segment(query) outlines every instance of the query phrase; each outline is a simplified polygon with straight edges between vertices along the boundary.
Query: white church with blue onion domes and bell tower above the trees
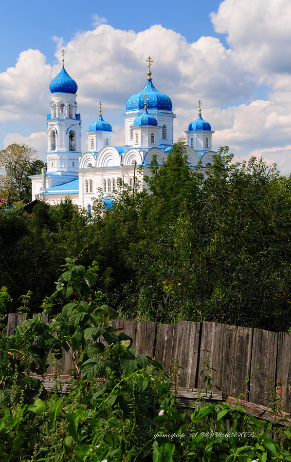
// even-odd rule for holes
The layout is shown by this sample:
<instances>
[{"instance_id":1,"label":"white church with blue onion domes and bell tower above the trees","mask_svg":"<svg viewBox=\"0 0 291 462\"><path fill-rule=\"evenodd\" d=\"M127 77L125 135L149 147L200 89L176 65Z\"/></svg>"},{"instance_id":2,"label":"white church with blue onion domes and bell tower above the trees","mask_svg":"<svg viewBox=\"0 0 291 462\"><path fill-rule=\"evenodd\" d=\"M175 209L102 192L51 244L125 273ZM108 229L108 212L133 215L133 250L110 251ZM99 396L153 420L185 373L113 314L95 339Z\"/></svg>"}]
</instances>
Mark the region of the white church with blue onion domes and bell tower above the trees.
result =
<instances>
[{"instance_id":1,"label":"white church with blue onion domes and bell tower above the trees","mask_svg":"<svg viewBox=\"0 0 291 462\"><path fill-rule=\"evenodd\" d=\"M64 68L62 51L63 67L49 85L47 170L42 169L41 175L30 177L32 200L43 199L56 204L68 196L90 213L96 200L101 199L106 208L112 205L118 178L133 187L136 166L142 165L143 175L149 175L153 156L156 164L162 165L173 144L176 115L171 99L153 85L149 56L145 86L126 101L125 145L114 145L114 132L102 117L100 102L99 117L86 132L88 150L82 153L81 115L76 101L78 87ZM211 137L214 131L202 119L201 102L198 104L198 117L185 131L186 149L190 168L201 160L201 170L205 171L212 162Z\"/></svg>"}]
</instances>

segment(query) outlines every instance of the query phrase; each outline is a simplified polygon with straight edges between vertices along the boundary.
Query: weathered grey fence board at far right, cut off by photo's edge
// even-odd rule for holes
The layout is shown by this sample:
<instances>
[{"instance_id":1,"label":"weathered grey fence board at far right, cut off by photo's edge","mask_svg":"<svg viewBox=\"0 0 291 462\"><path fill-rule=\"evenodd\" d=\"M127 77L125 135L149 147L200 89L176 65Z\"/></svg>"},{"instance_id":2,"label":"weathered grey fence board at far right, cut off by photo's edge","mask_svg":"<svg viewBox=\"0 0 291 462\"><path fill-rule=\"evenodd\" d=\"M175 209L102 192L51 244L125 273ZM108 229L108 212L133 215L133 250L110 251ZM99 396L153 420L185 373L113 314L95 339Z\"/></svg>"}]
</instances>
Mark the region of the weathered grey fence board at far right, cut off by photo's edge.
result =
<instances>
[{"instance_id":1,"label":"weathered grey fence board at far right, cut off by photo's edge","mask_svg":"<svg viewBox=\"0 0 291 462\"><path fill-rule=\"evenodd\" d=\"M291 334L283 332L278 337L277 383L281 405L291 412Z\"/></svg>"}]
</instances>

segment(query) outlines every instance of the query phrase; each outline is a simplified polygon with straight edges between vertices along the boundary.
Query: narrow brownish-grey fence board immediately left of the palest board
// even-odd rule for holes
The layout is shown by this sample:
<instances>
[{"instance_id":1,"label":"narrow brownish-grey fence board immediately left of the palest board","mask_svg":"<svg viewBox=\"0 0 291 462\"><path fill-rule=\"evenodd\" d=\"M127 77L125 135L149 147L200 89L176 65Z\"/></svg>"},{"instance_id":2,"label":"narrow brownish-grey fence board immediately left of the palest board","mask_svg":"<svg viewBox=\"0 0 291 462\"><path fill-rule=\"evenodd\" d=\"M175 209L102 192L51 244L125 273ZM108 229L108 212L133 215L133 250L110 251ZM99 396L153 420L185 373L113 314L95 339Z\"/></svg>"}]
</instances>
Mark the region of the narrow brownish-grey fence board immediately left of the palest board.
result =
<instances>
[{"instance_id":1,"label":"narrow brownish-grey fence board immediately left of the palest board","mask_svg":"<svg viewBox=\"0 0 291 462\"><path fill-rule=\"evenodd\" d=\"M176 325L172 324L159 324L155 358L159 361L163 368L170 373L171 360L172 360L172 348L173 340L175 338Z\"/></svg>"}]
</instances>

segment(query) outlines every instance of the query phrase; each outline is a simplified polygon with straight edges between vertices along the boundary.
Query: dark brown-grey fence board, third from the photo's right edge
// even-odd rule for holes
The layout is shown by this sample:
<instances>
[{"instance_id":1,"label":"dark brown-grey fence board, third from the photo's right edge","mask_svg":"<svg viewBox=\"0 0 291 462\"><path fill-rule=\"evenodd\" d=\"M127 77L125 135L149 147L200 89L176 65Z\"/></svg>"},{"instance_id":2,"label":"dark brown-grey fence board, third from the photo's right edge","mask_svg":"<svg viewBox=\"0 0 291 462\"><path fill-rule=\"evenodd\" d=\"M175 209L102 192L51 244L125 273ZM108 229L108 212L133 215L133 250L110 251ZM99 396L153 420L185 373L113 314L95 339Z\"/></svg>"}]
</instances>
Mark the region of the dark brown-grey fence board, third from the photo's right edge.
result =
<instances>
[{"instance_id":1,"label":"dark brown-grey fence board, third from the photo's right edge","mask_svg":"<svg viewBox=\"0 0 291 462\"><path fill-rule=\"evenodd\" d=\"M249 398L250 364L251 364L251 347L252 347L253 329L239 327L235 336L235 345L233 352L233 362L228 377L229 387L227 386L227 396L239 398L244 394L244 398Z\"/></svg>"}]
</instances>

